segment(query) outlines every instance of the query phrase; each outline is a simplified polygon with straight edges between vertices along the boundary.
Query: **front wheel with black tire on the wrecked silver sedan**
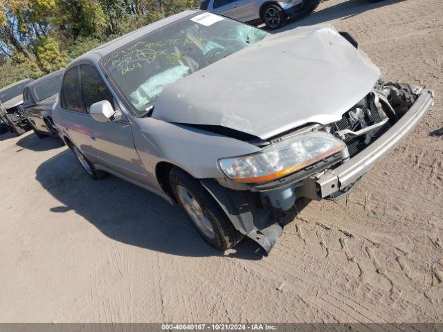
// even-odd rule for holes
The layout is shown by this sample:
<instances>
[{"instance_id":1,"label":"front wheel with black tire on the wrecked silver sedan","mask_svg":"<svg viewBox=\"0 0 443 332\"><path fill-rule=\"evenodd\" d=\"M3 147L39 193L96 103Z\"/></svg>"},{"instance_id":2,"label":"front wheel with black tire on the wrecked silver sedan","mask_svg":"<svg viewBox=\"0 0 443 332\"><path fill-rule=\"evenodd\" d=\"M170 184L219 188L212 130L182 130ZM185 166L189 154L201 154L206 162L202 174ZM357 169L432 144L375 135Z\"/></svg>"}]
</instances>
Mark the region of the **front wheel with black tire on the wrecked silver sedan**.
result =
<instances>
[{"instance_id":1,"label":"front wheel with black tire on the wrecked silver sedan","mask_svg":"<svg viewBox=\"0 0 443 332\"><path fill-rule=\"evenodd\" d=\"M174 167L170 185L175 199L201 237L218 250L233 248L244 237L201 183Z\"/></svg>"}]
</instances>

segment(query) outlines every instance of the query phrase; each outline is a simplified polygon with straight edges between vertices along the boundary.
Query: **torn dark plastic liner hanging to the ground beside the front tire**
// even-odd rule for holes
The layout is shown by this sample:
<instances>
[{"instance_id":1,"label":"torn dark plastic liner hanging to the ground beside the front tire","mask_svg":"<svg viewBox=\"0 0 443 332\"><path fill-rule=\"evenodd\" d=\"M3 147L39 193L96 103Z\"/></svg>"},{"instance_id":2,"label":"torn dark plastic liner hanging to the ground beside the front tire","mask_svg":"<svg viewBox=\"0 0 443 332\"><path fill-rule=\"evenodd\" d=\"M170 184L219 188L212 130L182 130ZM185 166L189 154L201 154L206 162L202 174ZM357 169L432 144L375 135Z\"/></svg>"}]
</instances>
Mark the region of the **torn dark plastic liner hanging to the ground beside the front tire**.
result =
<instances>
[{"instance_id":1,"label":"torn dark plastic liner hanging to the ground beside the front tire","mask_svg":"<svg viewBox=\"0 0 443 332\"><path fill-rule=\"evenodd\" d=\"M219 203L234 227L267 253L283 232L275 212L262 207L259 194L222 187L214 179L203 179L201 184Z\"/></svg>"}]
</instances>

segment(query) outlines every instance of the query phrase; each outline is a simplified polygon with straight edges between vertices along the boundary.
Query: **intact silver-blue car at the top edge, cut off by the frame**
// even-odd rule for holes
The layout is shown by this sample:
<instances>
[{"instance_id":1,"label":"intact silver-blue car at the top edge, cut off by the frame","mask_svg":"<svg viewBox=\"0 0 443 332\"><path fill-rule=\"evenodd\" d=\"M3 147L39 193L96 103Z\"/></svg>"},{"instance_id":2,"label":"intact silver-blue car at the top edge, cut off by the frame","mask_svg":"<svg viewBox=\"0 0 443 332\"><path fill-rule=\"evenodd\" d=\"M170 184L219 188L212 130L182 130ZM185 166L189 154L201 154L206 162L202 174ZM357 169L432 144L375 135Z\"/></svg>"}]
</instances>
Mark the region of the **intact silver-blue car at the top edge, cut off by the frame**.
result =
<instances>
[{"instance_id":1,"label":"intact silver-blue car at the top edge, cut off by the frame","mask_svg":"<svg viewBox=\"0 0 443 332\"><path fill-rule=\"evenodd\" d=\"M312 12L320 2L320 0L204 0L200 9L249 24L264 23L269 29L277 29L288 19Z\"/></svg>"}]
</instances>

